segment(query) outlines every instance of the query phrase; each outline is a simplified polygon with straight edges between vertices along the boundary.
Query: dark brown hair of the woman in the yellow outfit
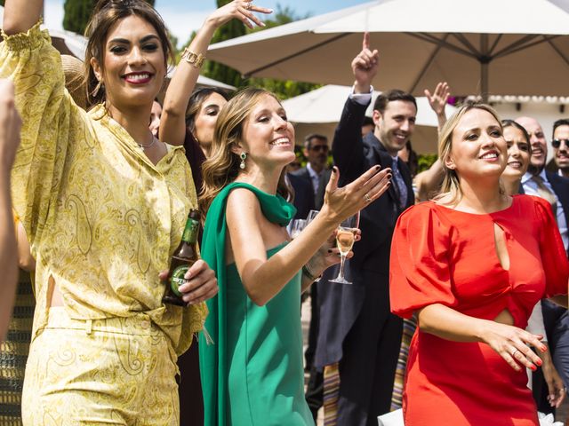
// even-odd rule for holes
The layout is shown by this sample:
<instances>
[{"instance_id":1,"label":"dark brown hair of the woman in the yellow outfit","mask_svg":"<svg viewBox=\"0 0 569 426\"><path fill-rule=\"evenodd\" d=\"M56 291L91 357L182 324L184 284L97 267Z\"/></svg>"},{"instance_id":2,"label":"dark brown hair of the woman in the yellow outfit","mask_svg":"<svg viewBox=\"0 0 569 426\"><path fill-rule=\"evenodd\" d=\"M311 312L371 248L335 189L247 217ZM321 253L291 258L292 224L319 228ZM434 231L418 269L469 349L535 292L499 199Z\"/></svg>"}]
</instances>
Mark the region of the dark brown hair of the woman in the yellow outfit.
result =
<instances>
[{"instance_id":1,"label":"dark brown hair of the woman in the yellow outfit","mask_svg":"<svg viewBox=\"0 0 569 426\"><path fill-rule=\"evenodd\" d=\"M156 29L164 50L164 66L167 68L168 61L173 62L172 43L170 43L164 20L150 4L143 0L99 0L85 29L88 42L85 50L84 79L90 105L106 100L105 89L97 80L91 66L91 59L97 59L102 67L108 31L116 22L129 16L138 16Z\"/></svg>"}]
</instances>

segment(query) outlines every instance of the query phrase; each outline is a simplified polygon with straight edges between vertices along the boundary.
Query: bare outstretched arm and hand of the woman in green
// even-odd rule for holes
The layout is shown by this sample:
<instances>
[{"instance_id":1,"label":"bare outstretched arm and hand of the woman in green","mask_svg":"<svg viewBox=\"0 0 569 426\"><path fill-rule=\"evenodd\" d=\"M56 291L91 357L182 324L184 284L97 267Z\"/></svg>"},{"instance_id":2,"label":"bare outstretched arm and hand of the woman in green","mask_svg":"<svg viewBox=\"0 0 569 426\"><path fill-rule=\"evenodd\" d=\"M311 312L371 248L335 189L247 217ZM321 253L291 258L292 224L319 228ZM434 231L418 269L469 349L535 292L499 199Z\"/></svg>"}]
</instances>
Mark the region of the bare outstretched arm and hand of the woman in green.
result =
<instances>
[{"instance_id":1,"label":"bare outstretched arm and hand of the woman in green","mask_svg":"<svg viewBox=\"0 0 569 426\"><path fill-rule=\"evenodd\" d=\"M244 289L253 303L263 305L276 296L325 244L341 220L379 198L389 186L389 171L379 171L376 166L353 183L338 188L339 172L335 170L320 213L298 237L269 259L265 244L274 247L282 240L264 241L259 201L248 190L233 191L227 205L228 239ZM370 201L365 201L366 193ZM311 271L314 276L321 272Z\"/></svg>"}]
</instances>

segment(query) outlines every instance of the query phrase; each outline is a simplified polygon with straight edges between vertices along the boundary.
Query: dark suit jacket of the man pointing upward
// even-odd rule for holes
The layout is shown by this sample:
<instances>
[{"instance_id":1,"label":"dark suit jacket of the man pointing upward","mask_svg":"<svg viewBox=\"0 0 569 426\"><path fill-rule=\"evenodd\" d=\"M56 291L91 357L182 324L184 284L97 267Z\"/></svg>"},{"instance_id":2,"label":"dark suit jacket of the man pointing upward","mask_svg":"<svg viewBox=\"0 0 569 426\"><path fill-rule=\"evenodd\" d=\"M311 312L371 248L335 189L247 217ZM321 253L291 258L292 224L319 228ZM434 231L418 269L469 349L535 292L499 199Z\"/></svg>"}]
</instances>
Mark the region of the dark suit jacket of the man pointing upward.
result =
<instances>
[{"instance_id":1,"label":"dark suit jacket of the man pointing upward","mask_svg":"<svg viewBox=\"0 0 569 426\"><path fill-rule=\"evenodd\" d=\"M333 159L340 169L340 185L347 185L365 170L379 164L382 169L390 168L392 159L381 142L368 133L362 138L361 126L366 106L348 99L341 115L341 121L334 134ZM414 202L411 174L404 162L399 170L407 185L405 209ZM320 300L320 332L317 343L317 367L337 362L342 356L342 343L357 319L364 298L377 297L375 305L382 310L387 320L389 312L389 253L391 237L402 213L398 207L393 185L387 193L374 201L360 213L359 227L362 240L354 245L354 256L346 264L346 274L352 285L339 285L321 280L318 283ZM335 273L326 273L327 278ZM370 324L382 327L382 324ZM370 342L370 345L376 344ZM399 350L398 343L397 348Z\"/></svg>"}]
</instances>

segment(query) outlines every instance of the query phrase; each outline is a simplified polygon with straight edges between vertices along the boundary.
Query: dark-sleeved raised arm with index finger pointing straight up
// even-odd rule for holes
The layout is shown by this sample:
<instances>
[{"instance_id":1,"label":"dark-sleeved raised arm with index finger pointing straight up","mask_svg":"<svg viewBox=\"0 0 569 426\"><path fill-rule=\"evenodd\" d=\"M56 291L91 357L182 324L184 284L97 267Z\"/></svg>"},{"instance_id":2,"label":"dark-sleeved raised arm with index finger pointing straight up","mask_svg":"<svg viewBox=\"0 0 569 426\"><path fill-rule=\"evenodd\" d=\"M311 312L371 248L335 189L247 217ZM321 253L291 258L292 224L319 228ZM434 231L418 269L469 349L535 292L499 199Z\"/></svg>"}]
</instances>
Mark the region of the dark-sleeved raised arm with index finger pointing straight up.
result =
<instances>
[{"instance_id":1,"label":"dark-sleeved raised arm with index finger pointing straight up","mask_svg":"<svg viewBox=\"0 0 569 426\"><path fill-rule=\"evenodd\" d=\"M365 170L362 122L372 101L372 81L378 66L379 52L371 50L369 34L365 33L362 51L351 63L355 96L346 101L332 144L334 162L349 181Z\"/></svg>"}]
</instances>

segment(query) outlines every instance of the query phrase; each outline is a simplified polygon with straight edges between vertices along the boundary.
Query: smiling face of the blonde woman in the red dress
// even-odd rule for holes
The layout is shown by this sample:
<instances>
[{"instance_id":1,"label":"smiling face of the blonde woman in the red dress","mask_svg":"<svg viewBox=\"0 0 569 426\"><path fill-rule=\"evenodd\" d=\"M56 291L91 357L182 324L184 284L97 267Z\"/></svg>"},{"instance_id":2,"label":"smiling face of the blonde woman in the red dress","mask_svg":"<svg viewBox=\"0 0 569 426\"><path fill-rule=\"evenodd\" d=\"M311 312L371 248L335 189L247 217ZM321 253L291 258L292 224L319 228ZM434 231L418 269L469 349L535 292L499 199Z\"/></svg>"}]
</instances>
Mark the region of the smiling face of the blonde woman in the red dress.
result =
<instances>
[{"instance_id":1,"label":"smiling face of the blonde woman in the red dress","mask_svg":"<svg viewBox=\"0 0 569 426\"><path fill-rule=\"evenodd\" d=\"M501 124L480 108L467 111L453 130L445 165L461 179L500 177L506 167L507 148Z\"/></svg>"}]
</instances>

